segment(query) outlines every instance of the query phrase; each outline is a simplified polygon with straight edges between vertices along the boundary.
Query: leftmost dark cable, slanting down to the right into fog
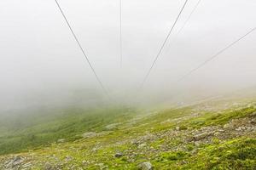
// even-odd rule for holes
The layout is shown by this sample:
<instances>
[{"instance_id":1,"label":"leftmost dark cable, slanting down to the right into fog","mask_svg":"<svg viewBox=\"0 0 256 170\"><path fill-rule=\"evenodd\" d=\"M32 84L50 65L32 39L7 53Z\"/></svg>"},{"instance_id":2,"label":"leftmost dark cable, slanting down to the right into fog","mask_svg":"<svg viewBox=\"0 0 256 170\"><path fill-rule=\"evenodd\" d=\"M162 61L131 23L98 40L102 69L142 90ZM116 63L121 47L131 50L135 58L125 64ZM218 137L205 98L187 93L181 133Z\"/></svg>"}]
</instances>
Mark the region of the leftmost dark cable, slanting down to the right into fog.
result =
<instances>
[{"instance_id":1,"label":"leftmost dark cable, slanting down to the right into fog","mask_svg":"<svg viewBox=\"0 0 256 170\"><path fill-rule=\"evenodd\" d=\"M78 37L77 37L77 36L76 36L76 34L74 33L72 26L69 24L69 22L68 22L68 20L67 20L66 15L64 14L63 10L61 9L60 4L58 3L58 1L57 1L57 0L55 0L55 3L57 4L58 8L60 9L60 12L61 12L61 14L62 14L63 18L65 19L65 21L66 21L66 23L67 23L67 26L68 26L69 30L72 32L72 34L73 34L73 37L74 37L75 41L78 43L79 48L80 48L81 52L82 52L82 53L83 53L83 55L84 55L84 58L86 59L86 61L87 61L88 65L90 65L90 70L93 72L94 76L96 77L97 82L99 82L99 84L100 84L100 86L102 87L102 89L103 89L104 93L108 95L107 88L105 88L105 87L104 87L104 85L103 85L103 83L102 83L101 79L97 76L97 74L96 74L96 71L95 71L94 67L91 65L90 60L88 59L87 55L85 54L85 52L84 52L84 48L82 48L81 43L79 42Z\"/></svg>"}]
</instances>

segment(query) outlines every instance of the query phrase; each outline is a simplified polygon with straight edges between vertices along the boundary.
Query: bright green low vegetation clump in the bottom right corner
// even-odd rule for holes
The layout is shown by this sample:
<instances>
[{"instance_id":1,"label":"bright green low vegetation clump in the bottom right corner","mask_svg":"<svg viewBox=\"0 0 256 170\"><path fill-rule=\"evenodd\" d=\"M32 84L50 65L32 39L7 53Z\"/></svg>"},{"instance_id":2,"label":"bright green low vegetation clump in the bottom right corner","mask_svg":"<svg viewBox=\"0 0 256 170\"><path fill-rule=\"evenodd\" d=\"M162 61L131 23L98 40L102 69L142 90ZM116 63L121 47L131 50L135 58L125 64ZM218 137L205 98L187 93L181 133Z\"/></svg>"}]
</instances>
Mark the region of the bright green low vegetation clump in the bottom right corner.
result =
<instances>
[{"instance_id":1,"label":"bright green low vegetation clump in the bottom right corner","mask_svg":"<svg viewBox=\"0 0 256 170\"><path fill-rule=\"evenodd\" d=\"M183 169L255 169L256 139L232 139L210 144L188 159Z\"/></svg>"}]
</instances>

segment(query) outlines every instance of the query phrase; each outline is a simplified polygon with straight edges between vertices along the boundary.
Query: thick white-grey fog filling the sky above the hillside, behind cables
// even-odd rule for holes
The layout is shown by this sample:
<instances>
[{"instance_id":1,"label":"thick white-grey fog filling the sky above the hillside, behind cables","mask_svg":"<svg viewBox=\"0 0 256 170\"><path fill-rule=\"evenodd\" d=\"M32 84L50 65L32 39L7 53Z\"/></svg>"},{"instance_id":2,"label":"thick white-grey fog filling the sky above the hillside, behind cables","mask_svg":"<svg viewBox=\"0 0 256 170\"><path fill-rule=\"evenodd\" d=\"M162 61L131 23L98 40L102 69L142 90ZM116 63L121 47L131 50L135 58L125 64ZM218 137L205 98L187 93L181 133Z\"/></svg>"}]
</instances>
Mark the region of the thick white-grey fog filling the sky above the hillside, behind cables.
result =
<instances>
[{"instance_id":1,"label":"thick white-grey fog filling the sky above the hillside, behind cables","mask_svg":"<svg viewBox=\"0 0 256 170\"><path fill-rule=\"evenodd\" d=\"M253 0L197 0L184 8L148 81L140 89L182 0L59 0L97 75L102 92L54 0L0 1L0 114L40 105L182 102L253 87L256 31L177 82L256 26Z\"/></svg>"}]
</instances>

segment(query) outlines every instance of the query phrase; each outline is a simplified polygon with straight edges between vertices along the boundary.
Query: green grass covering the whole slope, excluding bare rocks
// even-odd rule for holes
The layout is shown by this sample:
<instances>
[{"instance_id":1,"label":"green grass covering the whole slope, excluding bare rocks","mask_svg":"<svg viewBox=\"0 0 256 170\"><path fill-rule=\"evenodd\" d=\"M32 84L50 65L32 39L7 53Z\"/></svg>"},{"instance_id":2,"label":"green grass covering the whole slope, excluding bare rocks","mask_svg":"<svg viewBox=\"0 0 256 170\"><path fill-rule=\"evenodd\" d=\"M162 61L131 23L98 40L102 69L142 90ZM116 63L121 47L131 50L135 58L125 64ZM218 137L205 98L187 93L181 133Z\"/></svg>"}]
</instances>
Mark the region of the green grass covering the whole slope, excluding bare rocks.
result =
<instances>
[{"instance_id":1,"label":"green grass covering the whole slope, excluding bare rocks","mask_svg":"<svg viewBox=\"0 0 256 170\"><path fill-rule=\"evenodd\" d=\"M44 117L39 124L24 126L17 132L4 135L0 138L0 153L2 150L5 154L33 149L21 154L32 160L33 169L44 169L45 162L61 169L100 169L102 165L109 169L137 169L143 161L150 161L154 169L163 170L255 169L255 132L234 137L231 134L236 131L234 128L224 139L212 135L208 142L201 140L200 144L186 140L202 127L222 128L234 119L255 118L255 105L244 103L222 109L220 104L212 104L209 111L203 109L205 104L201 104L144 116L129 108L69 109L52 120ZM142 118L129 124L136 116ZM100 133L107 125L116 122L121 124L106 135L90 139L78 137L85 132ZM65 143L55 143L62 138L66 139ZM145 146L139 148L140 144ZM116 158L116 152L124 155ZM72 159L67 161L69 156Z\"/></svg>"}]
</instances>

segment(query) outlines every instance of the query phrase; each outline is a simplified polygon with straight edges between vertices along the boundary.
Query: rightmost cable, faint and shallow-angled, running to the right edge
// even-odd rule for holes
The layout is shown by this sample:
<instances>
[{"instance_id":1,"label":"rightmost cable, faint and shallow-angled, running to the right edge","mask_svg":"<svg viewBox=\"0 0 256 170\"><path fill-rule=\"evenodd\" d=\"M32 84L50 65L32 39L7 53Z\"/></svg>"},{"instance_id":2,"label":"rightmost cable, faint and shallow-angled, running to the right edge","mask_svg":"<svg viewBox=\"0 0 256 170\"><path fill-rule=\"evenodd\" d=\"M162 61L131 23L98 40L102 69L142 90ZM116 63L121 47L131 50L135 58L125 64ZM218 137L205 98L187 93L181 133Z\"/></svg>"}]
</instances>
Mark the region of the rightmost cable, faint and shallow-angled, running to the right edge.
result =
<instances>
[{"instance_id":1,"label":"rightmost cable, faint and shallow-angled, running to the right edge","mask_svg":"<svg viewBox=\"0 0 256 170\"><path fill-rule=\"evenodd\" d=\"M206 65L208 62L212 61L212 59L215 59L218 57L218 55L223 54L224 51L226 51L227 49L231 48L232 46L234 46L237 42L240 42L244 37L247 37L250 33L252 33L253 31L256 30L256 27L254 27L251 31L248 31L245 35L241 36L240 38L236 39L236 41L230 43L230 45L228 45L227 47L221 49L220 51L218 51L217 54L212 55L212 57L210 57L209 59L205 60L204 62L202 62L200 65L198 65L197 67L195 67L194 69L192 69L191 71L189 71L187 74L183 75L183 77L181 77L180 79L178 79L177 82L181 82L184 78L188 77L190 74L192 74L193 72L197 71L198 69L200 69L202 66Z\"/></svg>"}]
</instances>

